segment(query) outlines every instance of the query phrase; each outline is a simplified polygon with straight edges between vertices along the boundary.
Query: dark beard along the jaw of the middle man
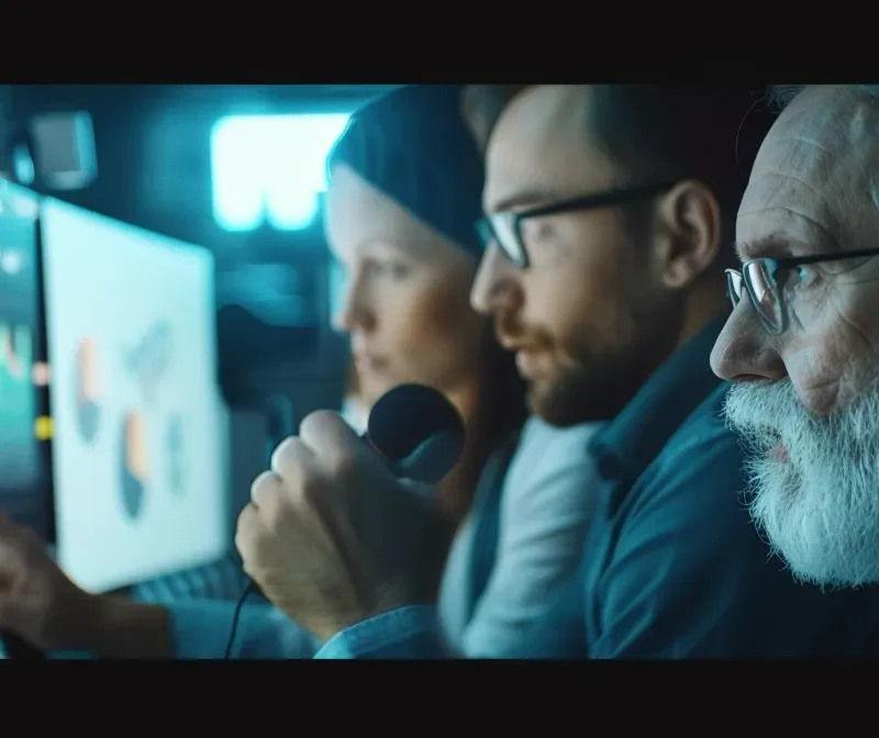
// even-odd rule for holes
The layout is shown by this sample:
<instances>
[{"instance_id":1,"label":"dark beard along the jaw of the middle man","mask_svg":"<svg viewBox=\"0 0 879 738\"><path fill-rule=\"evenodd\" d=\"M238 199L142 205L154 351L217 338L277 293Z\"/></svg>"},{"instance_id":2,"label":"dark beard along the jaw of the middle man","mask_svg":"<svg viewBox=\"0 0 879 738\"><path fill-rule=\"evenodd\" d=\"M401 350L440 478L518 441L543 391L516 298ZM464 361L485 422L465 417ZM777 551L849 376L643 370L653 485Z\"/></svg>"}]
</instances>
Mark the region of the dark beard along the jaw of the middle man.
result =
<instances>
[{"instance_id":1,"label":"dark beard along the jaw of the middle man","mask_svg":"<svg viewBox=\"0 0 879 738\"><path fill-rule=\"evenodd\" d=\"M552 383L530 388L532 412L556 427L615 417L674 353L683 323L683 301L669 295L666 304L641 310L634 323L632 343L612 354L596 355L588 340L575 346L574 368Z\"/></svg>"}]
</instances>

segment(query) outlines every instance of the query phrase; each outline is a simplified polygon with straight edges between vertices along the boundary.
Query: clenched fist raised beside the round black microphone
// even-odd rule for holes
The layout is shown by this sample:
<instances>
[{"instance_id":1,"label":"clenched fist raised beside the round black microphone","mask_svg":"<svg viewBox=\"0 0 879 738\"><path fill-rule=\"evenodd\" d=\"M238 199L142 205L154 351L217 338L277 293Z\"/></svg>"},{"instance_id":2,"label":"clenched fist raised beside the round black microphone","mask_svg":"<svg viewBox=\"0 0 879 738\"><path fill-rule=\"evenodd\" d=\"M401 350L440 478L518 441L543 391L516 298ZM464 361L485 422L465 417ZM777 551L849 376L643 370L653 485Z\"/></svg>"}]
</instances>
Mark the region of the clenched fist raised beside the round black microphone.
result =
<instances>
[{"instance_id":1,"label":"clenched fist raised beside the round black microphone","mask_svg":"<svg viewBox=\"0 0 879 738\"><path fill-rule=\"evenodd\" d=\"M309 415L257 478L238 517L244 570L320 638L435 601L452 529L335 413Z\"/></svg>"}]
</instances>

